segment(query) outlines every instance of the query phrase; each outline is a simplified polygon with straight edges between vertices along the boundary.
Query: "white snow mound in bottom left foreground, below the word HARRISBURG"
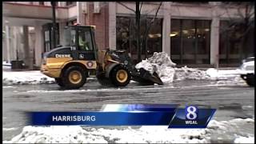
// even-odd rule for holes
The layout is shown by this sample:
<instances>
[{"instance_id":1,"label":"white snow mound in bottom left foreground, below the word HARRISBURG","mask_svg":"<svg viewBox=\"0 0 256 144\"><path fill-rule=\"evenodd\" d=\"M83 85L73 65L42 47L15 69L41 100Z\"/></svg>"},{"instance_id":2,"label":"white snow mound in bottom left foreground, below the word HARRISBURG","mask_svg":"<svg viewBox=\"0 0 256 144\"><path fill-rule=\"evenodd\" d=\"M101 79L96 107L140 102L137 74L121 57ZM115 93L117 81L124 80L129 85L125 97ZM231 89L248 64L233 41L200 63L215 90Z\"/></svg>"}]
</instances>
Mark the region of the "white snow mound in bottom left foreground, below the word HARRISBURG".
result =
<instances>
[{"instance_id":1,"label":"white snow mound in bottom left foreground, below the word HARRISBURG","mask_svg":"<svg viewBox=\"0 0 256 144\"><path fill-rule=\"evenodd\" d=\"M22 134L4 143L107 143L103 137L88 134L81 126L25 126Z\"/></svg>"}]
</instances>

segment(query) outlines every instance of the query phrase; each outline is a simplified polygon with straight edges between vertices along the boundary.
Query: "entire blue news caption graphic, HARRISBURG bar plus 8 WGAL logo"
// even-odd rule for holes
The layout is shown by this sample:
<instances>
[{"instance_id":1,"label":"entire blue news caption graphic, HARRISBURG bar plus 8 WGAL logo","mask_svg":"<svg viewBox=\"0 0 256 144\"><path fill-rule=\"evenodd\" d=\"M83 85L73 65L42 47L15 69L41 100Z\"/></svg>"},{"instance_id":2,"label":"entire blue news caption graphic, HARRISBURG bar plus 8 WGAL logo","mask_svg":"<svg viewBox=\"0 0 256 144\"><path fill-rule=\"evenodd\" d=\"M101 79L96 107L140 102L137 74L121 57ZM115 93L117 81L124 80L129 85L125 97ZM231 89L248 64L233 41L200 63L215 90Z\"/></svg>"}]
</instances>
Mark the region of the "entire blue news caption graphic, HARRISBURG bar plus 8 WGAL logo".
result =
<instances>
[{"instance_id":1,"label":"entire blue news caption graphic, HARRISBURG bar plus 8 WGAL logo","mask_svg":"<svg viewBox=\"0 0 256 144\"><path fill-rule=\"evenodd\" d=\"M88 112L31 112L34 126L168 126L169 128L205 128L214 109L198 109L178 105L107 104L102 111Z\"/></svg>"}]
</instances>

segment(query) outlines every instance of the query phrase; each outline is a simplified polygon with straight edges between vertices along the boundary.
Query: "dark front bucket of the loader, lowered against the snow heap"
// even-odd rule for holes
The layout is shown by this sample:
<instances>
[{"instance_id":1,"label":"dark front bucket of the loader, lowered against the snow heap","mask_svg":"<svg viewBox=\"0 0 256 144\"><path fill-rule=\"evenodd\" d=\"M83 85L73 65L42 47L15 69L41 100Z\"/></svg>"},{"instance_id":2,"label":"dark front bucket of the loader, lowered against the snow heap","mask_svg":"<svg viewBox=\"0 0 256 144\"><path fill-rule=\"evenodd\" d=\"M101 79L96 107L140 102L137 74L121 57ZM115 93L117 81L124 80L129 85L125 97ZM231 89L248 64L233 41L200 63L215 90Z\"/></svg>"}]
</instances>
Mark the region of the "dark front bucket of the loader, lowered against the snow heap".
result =
<instances>
[{"instance_id":1,"label":"dark front bucket of the loader, lowered against the snow heap","mask_svg":"<svg viewBox=\"0 0 256 144\"><path fill-rule=\"evenodd\" d=\"M148 70L143 68L140 68L138 73L132 74L132 79L142 85L154 85L154 83L163 85L161 78L159 78L156 72L154 72L154 74L150 74Z\"/></svg>"}]
</instances>

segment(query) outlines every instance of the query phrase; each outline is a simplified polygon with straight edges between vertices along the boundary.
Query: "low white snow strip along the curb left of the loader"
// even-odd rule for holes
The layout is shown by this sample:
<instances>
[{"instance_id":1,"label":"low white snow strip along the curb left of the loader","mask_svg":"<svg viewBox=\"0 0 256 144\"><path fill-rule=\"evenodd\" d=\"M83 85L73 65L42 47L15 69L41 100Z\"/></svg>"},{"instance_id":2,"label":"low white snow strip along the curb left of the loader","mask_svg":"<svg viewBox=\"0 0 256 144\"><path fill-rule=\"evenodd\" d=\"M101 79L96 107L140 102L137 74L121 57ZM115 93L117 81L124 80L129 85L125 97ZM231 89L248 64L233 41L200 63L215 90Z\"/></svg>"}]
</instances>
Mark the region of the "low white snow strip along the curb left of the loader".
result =
<instances>
[{"instance_id":1,"label":"low white snow strip along the curb left of the loader","mask_svg":"<svg viewBox=\"0 0 256 144\"><path fill-rule=\"evenodd\" d=\"M39 70L31 71L2 71L2 84L40 84L54 83L54 78L47 77Z\"/></svg>"}]
</instances>

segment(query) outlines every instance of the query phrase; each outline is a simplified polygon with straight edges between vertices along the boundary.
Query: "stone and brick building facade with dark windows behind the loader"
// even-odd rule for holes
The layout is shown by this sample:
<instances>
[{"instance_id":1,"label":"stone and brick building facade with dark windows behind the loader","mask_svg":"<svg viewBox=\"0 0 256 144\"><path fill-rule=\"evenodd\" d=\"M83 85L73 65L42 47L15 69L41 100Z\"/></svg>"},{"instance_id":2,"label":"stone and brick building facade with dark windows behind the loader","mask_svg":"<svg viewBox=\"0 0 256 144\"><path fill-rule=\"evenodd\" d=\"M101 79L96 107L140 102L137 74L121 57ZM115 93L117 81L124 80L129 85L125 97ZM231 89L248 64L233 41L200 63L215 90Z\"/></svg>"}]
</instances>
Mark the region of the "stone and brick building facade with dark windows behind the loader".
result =
<instances>
[{"instance_id":1,"label":"stone and brick building facade with dark windows behind the loader","mask_svg":"<svg viewBox=\"0 0 256 144\"><path fill-rule=\"evenodd\" d=\"M142 30L154 17L160 2L143 2ZM125 7L126 6L126 7ZM254 6L254 5L252 5ZM64 41L63 30L74 22L82 25L96 26L95 38L98 49L110 47L112 50L126 49L136 57L134 24L134 2L58 2L56 18L58 22L59 43ZM147 48L142 47L142 58L154 51L164 51L180 65L194 66L238 66L242 58L254 56L254 8L250 13L250 25L246 46L241 38L230 37L241 35L239 30L231 30L230 19L240 21L239 11L246 15L245 7L230 5L226 2L163 2L154 26L148 35ZM240 14L241 15L241 14ZM50 2L4 2L3 30L25 28L34 35L32 52L27 57L34 58L34 65L40 66L42 53L52 49L47 45L51 34L52 13ZM226 26L226 27L225 27ZM46 27L46 29L44 28ZM227 30L228 29L228 30ZM15 30L8 30L13 32ZM17 31L17 30L16 30ZM22 30L18 30L22 33ZM48 35L47 35L48 34ZM8 34L7 34L8 35ZM11 35L11 34L9 34ZM29 38L22 35L23 38ZM15 46L10 43L19 42ZM29 42L32 42L30 39ZM11 38L3 39L6 50L3 60L13 60L12 51L24 51L24 43ZM48 48L46 48L48 46ZM9 51L9 53L7 52ZM146 52L147 51L147 52ZM243 53L243 51L246 51ZM8 57L6 55L9 55Z\"/></svg>"}]
</instances>

